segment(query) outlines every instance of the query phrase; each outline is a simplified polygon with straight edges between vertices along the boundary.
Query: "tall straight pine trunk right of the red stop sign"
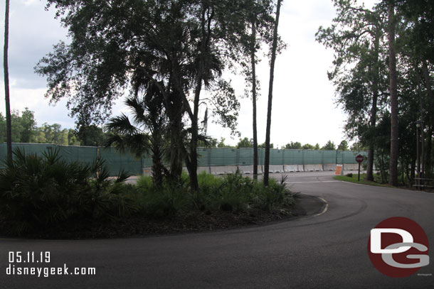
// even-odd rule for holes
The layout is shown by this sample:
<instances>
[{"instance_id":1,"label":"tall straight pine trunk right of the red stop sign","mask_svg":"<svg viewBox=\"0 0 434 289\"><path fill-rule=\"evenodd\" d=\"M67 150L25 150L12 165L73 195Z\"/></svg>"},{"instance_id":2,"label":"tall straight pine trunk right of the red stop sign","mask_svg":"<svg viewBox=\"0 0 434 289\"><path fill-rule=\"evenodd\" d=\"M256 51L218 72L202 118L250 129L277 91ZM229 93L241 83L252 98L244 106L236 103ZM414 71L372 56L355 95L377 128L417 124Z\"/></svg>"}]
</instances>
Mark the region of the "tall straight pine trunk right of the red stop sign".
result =
<instances>
[{"instance_id":1,"label":"tall straight pine trunk right of the red stop sign","mask_svg":"<svg viewBox=\"0 0 434 289\"><path fill-rule=\"evenodd\" d=\"M388 6L388 54L389 75L391 89L391 159L389 162L390 185L398 185L398 91L396 80L396 53L395 53L395 7Z\"/></svg>"}]
</instances>

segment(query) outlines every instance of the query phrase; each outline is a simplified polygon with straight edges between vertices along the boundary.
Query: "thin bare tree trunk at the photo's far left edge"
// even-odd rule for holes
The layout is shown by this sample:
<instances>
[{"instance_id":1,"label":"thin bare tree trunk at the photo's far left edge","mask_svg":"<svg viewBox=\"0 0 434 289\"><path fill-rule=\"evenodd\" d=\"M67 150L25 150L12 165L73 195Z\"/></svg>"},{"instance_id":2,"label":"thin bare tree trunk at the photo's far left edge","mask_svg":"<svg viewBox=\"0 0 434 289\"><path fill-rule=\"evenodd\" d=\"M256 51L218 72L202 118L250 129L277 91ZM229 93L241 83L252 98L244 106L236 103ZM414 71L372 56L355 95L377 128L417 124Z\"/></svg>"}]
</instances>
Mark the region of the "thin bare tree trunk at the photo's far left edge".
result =
<instances>
[{"instance_id":1,"label":"thin bare tree trunk at the photo's far left edge","mask_svg":"<svg viewBox=\"0 0 434 289\"><path fill-rule=\"evenodd\" d=\"M9 67L8 67L8 47L9 47L9 0L6 0L6 11L4 16L4 99L6 102L6 147L7 159L12 161L12 129L11 129L11 103L9 102Z\"/></svg>"}]
</instances>

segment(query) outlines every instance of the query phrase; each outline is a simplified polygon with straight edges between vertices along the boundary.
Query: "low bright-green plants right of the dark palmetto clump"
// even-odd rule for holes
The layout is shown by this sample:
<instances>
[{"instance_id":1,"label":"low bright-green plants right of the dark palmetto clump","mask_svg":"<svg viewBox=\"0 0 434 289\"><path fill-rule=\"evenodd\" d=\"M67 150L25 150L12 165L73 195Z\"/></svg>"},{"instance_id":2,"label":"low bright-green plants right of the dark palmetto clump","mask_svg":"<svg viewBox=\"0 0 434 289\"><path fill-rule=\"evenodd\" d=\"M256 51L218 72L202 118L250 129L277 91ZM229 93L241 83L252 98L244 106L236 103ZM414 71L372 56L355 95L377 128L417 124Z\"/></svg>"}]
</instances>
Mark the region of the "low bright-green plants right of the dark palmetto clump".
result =
<instances>
[{"instance_id":1,"label":"low bright-green plants right of the dark palmetto clump","mask_svg":"<svg viewBox=\"0 0 434 289\"><path fill-rule=\"evenodd\" d=\"M149 177L140 178L137 189L142 195L140 200L144 214L160 218L191 209L240 212L258 208L270 211L275 207L289 206L293 202L285 178L280 182L271 180L268 187L244 177L239 171L223 178L202 172L198 175L198 180L199 191L192 192L186 185L188 179L176 186L166 182L164 187L156 190Z\"/></svg>"}]
</instances>

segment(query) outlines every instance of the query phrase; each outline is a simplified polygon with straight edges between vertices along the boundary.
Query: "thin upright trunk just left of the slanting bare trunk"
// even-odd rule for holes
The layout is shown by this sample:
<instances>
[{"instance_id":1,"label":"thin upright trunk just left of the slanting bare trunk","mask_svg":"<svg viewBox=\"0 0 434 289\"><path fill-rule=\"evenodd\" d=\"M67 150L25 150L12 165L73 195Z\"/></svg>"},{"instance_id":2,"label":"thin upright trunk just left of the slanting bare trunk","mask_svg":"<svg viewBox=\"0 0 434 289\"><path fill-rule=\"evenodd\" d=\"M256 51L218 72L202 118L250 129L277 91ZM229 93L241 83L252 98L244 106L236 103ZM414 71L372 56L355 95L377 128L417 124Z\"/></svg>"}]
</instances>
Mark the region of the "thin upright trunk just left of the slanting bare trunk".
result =
<instances>
[{"instance_id":1,"label":"thin upright trunk just left of the slanting bare trunk","mask_svg":"<svg viewBox=\"0 0 434 289\"><path fill-rule=\"evenodd\" d=\"M250 48L250 61L252 63L252 102L253 102L253 179L258 180L258 131L256 124L256 23L252 22L252 46Z\"/></svg>"}]
</instances>

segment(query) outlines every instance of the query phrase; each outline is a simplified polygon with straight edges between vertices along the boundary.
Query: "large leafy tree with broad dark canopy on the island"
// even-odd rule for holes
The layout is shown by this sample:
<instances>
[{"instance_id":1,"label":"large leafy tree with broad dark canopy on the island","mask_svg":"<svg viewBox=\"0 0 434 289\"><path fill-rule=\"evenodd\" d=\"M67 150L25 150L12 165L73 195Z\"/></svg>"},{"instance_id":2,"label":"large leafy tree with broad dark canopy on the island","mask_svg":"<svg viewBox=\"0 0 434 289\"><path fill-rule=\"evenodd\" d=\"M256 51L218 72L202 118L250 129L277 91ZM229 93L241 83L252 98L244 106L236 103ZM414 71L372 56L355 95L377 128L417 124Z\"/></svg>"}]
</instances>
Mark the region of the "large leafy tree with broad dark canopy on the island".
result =
<instances>
[{"instance_id":1,"label":"large leafy tree with broad dark canopy on the island","mask_svg":"<svg viewBox=\"0 0 434 289\"><path fill-rule=\"evenodd\" d=\"M103 121L127 84L154 84L169 119L171 174L181 179L184 160L191 188L199 190L199 105L208 102L218 124L235 131L239 102L222 72L242 50L244 1L48 0L48 6L68 27L71 44L59 43L36 67L48 79L47 96L68 97L80 126Z\"/></svg>"}]
</instances>

